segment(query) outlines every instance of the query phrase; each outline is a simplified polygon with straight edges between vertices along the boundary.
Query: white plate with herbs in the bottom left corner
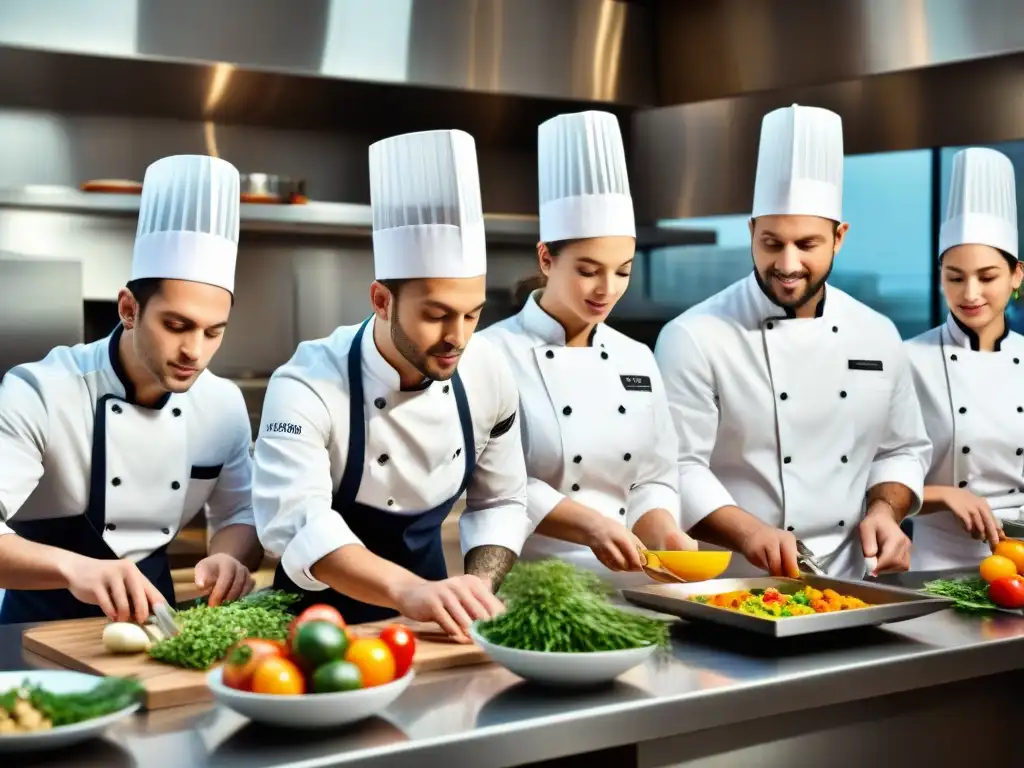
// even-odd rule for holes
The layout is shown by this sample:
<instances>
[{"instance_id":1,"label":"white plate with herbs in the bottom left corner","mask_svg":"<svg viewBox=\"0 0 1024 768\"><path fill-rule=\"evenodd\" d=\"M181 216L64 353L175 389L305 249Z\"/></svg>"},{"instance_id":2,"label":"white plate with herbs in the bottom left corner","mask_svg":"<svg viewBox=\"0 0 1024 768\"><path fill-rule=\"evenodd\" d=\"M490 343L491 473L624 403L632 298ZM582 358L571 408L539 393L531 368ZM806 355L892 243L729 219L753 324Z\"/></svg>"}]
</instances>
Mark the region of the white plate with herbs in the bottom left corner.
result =
<instances>
[{"instance_id":1,"label":"white plate with herbs in the bottom left corner","mask_svg":"<svg viewBox=\"0 0 1024 768\"><path fill-rule=\"evenodd\" d=\"M23 672L0 672L0 693L19 687L28 681L30 685L40 685L51 693L83 693L96 687L102 678L81 672L57 670L25 670ZM53 750L69 746L79 741L94 738L110 726L132 715L141 703L134 703L119 712L101 718L86 720L75 725L61 725L45 731L33 733L0 733L0 753L28 752L30 750Z\"/></svg>"}]
</instances>

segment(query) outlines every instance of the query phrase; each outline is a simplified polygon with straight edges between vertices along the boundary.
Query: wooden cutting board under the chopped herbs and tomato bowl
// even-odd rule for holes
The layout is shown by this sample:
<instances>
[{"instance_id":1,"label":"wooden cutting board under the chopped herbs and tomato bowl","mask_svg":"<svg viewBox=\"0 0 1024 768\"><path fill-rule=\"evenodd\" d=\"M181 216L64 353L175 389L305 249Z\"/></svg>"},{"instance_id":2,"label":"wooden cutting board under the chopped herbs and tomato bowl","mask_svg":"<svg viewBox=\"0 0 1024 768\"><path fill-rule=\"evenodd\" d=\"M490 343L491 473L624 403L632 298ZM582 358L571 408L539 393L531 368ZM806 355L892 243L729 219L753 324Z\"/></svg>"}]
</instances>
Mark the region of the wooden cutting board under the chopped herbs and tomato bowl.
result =
<instances>
[{"instance_id":1,"label":"wooden cutting board under the chopped herbs and tomato bowl","mask_svg":"<svg viewBox=\"0 0 1024 768\"><path fill-rule=\"evenodd\" d=\"M419 673L453 667L485 664L488 659L475 645L462 645L445 639L437 625L406 620L379 622L354 627L359 635L374 635L388 624L403 624L417 633L413 669ZM81 618L51 622L26 630L22 644L61 667L93 675L136 676L145 686L145 708L158 710L212 698L206 674L160 664L145 653L109 653L103 649L105 618Z\"/></svg>"}]
</instances>

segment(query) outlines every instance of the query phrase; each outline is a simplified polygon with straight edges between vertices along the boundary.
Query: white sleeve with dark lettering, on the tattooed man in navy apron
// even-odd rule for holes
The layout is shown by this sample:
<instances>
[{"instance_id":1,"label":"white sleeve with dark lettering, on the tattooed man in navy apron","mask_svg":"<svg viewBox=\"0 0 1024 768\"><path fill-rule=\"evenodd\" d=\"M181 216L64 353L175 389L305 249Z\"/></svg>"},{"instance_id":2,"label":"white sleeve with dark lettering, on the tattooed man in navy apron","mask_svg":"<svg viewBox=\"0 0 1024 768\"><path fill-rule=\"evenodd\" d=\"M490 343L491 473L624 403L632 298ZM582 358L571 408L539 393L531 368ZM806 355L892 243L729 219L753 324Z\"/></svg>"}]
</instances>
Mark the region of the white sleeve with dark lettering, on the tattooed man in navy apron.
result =
<instances>
[{"instance_id":1,"label":"white sleeve with dark lettering, on the tattooed man in navy apron","mask_svg":"<svg viewBox=\"0 0 1024 768\"><path fill-rule=\"evenodd\" d=\"M310 568L335 550L360 544L331 507L327 404L305 382L274 375L267 386L253 462L253 512L263 547L299 587L328 585Z\"/></svg>"}]
</instances>

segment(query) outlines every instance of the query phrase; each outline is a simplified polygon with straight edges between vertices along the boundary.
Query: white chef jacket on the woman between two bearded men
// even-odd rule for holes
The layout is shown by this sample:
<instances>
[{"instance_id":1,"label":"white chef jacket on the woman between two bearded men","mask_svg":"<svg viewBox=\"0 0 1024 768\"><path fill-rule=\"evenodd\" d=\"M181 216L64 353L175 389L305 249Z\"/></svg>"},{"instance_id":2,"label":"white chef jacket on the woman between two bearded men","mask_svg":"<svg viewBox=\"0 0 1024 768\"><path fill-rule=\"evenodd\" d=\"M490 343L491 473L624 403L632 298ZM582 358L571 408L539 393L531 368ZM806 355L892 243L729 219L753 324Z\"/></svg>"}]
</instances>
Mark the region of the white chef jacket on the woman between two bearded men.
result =
<instances>
[{"instance_id":1,"label":"white chef jacket on the woman between two bearded men","mask_svg":"<svg viewBox=\"0 0 1024 768\"><path fill-rule=\"evenodd\" d=\"M658 508L678 521L679 446L648 347L603 324L590 346L567 347L536 294L480 335L505 352L519 386L534 527L566 497L629 528ZM644 573L609 570L589 547L540 534L522 557L559 557L617 587L650 583Z\"/></svg>"}]
</instances>

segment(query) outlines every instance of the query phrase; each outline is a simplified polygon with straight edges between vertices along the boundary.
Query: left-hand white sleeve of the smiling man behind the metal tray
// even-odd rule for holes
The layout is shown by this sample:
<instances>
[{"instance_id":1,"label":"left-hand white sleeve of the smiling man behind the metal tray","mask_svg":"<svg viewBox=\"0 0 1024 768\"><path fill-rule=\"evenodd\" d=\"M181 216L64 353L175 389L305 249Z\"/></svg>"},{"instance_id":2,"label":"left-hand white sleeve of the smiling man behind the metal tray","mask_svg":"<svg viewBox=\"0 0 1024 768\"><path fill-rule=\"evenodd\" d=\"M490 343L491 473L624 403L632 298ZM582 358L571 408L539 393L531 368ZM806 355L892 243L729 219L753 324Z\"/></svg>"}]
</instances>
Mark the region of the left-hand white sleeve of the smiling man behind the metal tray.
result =
<instances>
[{"instance_id":1,"label":"left-hand white sleeve of the smiling man behind the metal tray","mask_svg":"<svg viewBox=\"0 0 1024 768\"><path fill-rule=\"evenodd\" d=\"M689 530L712 512L736 504L711 470L719 422L715 376L679 323L670 323L658 334L654 357L678 438L680 519Z\"/></svg>"}]
</instances>

